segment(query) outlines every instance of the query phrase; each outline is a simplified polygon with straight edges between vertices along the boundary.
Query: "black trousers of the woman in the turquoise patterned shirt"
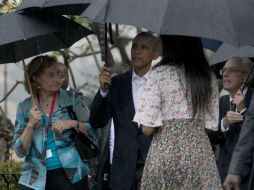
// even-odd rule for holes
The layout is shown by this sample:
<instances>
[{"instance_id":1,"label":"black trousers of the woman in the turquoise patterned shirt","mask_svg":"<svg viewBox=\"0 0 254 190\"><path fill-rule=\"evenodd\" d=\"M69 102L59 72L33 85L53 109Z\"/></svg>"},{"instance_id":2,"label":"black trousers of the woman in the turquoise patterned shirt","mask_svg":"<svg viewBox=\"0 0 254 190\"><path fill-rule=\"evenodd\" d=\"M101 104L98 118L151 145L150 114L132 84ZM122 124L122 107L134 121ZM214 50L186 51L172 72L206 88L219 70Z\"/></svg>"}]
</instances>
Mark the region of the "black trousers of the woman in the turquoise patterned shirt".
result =
<instances>
[{"instance_id":1,"label":"black trousers of the woman in the turquoise patterned shirt","mask_svg":"<svg viewBox=\"0 0 254 190\"><path fill-rule=\"evenodd\" d=\"M19 184L19 190L31 190L24 185ZM88 190L88 178L85 176L82 180L72 184L67 178L63 168L47 171L46 190Z\"/></svg>"}]
</instances>

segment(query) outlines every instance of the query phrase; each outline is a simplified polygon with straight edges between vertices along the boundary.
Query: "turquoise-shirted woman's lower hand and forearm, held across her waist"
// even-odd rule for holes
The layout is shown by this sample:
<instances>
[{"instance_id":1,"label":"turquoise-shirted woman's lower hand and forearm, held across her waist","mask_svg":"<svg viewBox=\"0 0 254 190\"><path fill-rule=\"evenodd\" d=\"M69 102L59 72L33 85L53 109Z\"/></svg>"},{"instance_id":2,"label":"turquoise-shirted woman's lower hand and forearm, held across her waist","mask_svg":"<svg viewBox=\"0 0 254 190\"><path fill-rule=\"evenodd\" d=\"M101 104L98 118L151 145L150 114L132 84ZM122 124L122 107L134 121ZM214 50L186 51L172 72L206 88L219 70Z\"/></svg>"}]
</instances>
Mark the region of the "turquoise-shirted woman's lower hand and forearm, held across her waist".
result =
<instances>
[{"instance_id":1,"label":"turquoise-shirted woman's lower hand and forearm, held across her waist","mask_svg":"<svg viewBox=\"0 0 254 190\"><path fill-rule=\"evenodd\" d=\"M57 133L62 133L67 129L76 128L77 126L78 126L77 120L57 120L53 124L52 129Z\"/></svg>"}]
</instances>

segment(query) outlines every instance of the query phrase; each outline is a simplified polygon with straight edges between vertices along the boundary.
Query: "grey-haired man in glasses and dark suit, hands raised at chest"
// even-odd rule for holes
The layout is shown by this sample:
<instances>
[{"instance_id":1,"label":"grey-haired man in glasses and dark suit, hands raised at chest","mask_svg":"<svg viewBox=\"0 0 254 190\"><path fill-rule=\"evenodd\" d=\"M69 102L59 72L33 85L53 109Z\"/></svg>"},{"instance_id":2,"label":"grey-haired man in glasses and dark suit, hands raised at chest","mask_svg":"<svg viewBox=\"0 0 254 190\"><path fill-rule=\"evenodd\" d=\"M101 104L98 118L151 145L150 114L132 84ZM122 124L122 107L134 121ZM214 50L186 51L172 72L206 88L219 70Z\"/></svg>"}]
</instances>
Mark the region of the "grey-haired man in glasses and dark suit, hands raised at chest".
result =
<instances>
[{"instance_id":1,"label":"grey-haired man in glasses and dark suit, hands raised at chest","mask_svg":"<svg viewBox=\"0 0 254 190\"><path fill-rule=\"evenodd\" d=\"M252 89L243 87L253 63L247 58L230 58L221 74L223 88L229 95L222 96L219 101L219 131L212 132L209 137L213 144L219 144L218 169L222 183L224 182L230 160L238 141L241 125L246 109L248 109ZM244 185L242 186L244 189Z\"/></svg>"}]
</instances>

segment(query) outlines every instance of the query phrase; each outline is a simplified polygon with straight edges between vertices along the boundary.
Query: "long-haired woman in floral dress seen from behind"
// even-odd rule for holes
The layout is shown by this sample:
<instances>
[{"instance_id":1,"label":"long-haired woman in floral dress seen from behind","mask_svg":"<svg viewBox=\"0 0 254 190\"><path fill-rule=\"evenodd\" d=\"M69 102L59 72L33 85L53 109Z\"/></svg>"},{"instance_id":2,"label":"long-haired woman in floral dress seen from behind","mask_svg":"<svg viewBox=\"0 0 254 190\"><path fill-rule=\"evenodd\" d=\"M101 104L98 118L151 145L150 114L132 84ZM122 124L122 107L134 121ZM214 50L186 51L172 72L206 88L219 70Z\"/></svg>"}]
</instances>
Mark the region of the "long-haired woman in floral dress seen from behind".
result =
<instances>
[{"instance_id":1,"label":"long-haired woman in floral dress seen from behind","mask_svg":"<svg viewBox=\"0 0 254 190\"><path fill-rule=\"evenodd\" d=\"M221 183L205 130L217 130L219 92L199 38L161 36L163 59L146 83L134 121L153 134L144 190L217 190Z\"/></svg>"}]
</instances>

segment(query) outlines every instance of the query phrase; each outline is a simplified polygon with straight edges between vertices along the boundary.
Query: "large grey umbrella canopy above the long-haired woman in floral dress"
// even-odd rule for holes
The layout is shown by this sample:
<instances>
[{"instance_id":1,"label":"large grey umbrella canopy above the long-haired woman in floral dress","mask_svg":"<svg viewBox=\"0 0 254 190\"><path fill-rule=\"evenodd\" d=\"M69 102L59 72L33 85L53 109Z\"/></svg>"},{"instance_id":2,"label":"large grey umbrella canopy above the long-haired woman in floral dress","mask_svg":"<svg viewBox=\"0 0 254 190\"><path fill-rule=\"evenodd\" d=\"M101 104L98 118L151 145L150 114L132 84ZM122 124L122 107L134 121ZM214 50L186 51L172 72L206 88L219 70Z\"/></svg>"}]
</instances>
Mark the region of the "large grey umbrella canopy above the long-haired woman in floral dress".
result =
<instances>
[{"instance_id":1,"label":"large grey umbrella canopy above the long-haired woman in floral dress","mask_svg":"<svg viewBox=\"0 0 254 190\"><path fill-rule=\"evenodd\" d=\"M250 0L94 0L81 16L241 46L254 44L253 10Z\"/></svg>"}]
</instances>

